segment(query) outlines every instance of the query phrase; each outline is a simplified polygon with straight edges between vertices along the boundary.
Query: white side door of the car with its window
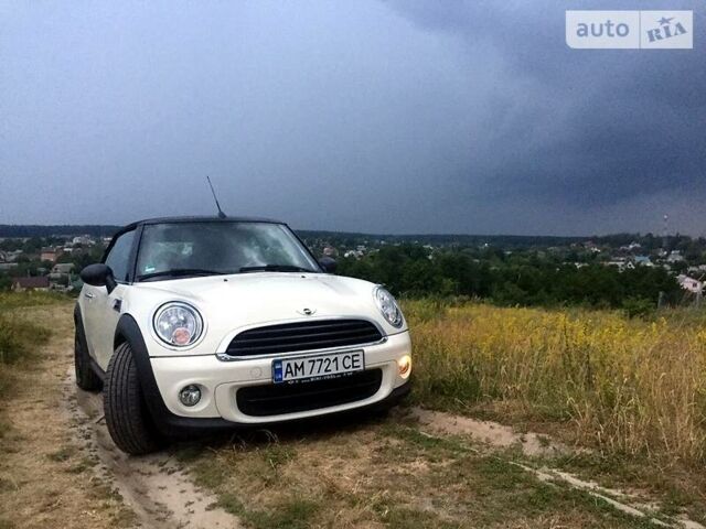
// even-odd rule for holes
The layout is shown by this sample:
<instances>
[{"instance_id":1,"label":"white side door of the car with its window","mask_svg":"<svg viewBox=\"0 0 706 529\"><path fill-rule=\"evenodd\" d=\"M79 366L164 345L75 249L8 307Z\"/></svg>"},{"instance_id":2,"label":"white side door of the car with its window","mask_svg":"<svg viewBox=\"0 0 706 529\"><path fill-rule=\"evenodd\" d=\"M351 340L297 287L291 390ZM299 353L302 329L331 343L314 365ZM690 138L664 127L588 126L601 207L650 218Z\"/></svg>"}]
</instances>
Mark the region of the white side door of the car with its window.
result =
<instances>
[{"instance_id":1,"label":"white side door of the car with its window","mask_svg":"<svg viewBox=\"0 0 706 529\"><path fill-rule=\"evenodd\" d=\"M129 289L135 229L117 236L104 258L113 270L117 287L108 293L106 287L84 285L85 321L88 347L98 365L105 370L113 356L115 330L120 319L120 306L126 290Z\"/></svg>"}]
</instances>

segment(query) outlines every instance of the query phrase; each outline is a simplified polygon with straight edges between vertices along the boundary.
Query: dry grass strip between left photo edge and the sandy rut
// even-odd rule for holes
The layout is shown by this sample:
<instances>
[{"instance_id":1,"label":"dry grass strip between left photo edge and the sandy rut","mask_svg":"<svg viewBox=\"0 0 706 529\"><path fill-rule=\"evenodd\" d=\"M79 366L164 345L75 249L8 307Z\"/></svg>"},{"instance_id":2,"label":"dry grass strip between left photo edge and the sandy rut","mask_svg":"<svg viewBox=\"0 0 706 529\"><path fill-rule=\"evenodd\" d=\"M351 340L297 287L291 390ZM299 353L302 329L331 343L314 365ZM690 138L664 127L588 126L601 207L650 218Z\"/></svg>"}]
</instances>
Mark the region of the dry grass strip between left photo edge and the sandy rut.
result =
<instances>
[{"instance_id":1,"label":"dry grass strip between left photo edge and the sandy rut","mask_svg":"<svg viewBox=\"0 0 706 529\"><path fill-rule=\"evenodd\" d=\"M0 293L0 529L133 527L62 411L72 301Z\"/></svg>"}]
</instances>

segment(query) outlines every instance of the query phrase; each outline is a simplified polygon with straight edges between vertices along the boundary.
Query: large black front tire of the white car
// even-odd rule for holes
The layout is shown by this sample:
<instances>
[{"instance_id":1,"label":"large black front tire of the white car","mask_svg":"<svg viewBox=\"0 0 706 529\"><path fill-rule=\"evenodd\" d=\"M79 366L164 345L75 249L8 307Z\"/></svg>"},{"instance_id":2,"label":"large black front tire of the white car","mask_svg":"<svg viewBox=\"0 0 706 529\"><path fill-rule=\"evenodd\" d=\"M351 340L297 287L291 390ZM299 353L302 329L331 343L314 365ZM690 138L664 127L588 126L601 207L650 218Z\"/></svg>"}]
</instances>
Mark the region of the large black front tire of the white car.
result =
<instances>
[{"instance_id":1,"label":"large black front tire of the white car","mask_svg":"<svg viewBox=\"0 0 706 529\"><path fill-rule=\"evenodd\" d=\"M148 454L161 446L137 375L132 349L128 343L115 349L103 389L103 409L108 432L122 452Z\"/></svg>"}]
</instances>

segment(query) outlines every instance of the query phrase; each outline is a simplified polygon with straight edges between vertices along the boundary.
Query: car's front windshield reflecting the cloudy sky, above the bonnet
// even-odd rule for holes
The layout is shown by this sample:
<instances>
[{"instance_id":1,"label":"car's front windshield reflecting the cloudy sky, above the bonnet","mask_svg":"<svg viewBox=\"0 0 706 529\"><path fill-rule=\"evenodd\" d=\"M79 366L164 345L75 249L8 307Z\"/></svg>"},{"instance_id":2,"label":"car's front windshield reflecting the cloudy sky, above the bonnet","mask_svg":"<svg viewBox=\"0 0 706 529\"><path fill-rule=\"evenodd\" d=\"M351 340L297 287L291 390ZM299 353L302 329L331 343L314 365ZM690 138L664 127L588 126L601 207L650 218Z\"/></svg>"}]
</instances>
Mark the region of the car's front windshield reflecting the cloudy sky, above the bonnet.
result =
<instances>
[{"instance_id":1,"label":"car's front windshield reflecting the cloudy sky, above the bonnet","mask_svg":"<svg viewBox=\"0 0 706 529\"><path fill-rule=\"evenodd\" d=\"M138 281L254 271L320 269L280 224L173 223L147 225L142 231Z\"/></svg>"}]
</instances>

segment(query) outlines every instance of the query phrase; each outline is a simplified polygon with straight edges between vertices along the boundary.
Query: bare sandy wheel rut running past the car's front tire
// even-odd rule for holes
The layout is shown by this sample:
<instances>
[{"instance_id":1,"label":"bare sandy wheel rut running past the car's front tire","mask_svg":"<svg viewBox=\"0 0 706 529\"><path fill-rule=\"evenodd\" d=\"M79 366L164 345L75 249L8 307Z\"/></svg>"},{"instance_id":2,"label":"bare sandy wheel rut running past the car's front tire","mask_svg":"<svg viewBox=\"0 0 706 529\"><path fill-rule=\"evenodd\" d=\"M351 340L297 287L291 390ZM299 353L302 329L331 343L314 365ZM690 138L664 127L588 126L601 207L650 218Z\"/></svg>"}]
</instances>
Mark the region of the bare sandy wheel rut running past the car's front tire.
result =
<instances>
[{"instance_id":1,"label":"bare sandy wheel rut running past the car's front tire","mask_svg":"<svg viewBox=\"0 0 706 529\"><path fill-rule=\"evenodd\" d=\"M141 527L150 529L236 529L239 520L216 498L196 487L178 461L164 452L131 456L118 450L105 424L100 393L83 391L74 384L73 369L64 380L64 412L76 435L88 442L99 460L98 471L111 481Z\"/></svg>"}]
</instances>

